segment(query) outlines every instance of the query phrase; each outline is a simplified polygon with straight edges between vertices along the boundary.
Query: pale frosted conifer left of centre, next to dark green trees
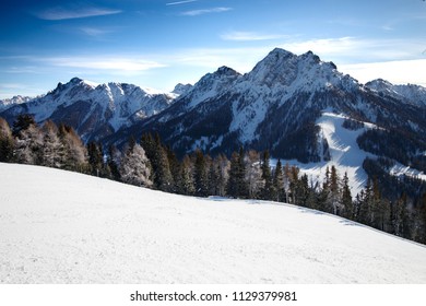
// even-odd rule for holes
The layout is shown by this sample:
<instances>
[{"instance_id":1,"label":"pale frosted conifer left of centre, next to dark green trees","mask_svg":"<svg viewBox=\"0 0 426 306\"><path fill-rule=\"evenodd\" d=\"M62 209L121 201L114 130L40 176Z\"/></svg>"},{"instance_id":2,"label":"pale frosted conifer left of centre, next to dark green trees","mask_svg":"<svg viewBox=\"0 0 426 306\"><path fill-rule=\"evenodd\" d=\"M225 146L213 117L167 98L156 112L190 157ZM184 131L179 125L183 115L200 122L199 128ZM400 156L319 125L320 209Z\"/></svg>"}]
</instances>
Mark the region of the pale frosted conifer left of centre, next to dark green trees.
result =
<instances>
[{"instance_id":1,"label":"pale frosted conifer left of centre, next to dark green trees","mask_svg":"<svg viewBox=\"0 0 426 306\"><path fill-rule=\"evenodd\" d=\"M120 164L121 180L141 187L152 187L151 165L145 151L138 143L130 141Z\"/></svg>"}]
</instances>

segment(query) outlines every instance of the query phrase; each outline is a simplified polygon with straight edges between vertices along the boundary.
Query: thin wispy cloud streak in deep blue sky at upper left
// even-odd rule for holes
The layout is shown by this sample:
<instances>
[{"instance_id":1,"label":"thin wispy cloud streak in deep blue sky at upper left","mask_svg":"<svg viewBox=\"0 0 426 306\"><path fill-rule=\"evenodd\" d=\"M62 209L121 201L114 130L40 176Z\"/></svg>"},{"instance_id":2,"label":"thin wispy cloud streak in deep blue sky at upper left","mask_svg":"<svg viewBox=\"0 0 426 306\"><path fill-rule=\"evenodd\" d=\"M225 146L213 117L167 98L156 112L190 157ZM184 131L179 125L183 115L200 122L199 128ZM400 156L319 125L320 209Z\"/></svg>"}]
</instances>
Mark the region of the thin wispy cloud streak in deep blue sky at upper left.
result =
<instances>
[{"instance_id":1,"label":"thin wispy cloud streak in deep blue sky at upper left","mask_svg":"<svg viewBox=\"0 0 426 306\"><path fill-rule=\"evenodd\" d=\"M35 13L35 15L42 20L59 21L71 19L84 19L93 16L113 15L121 13L121 10L111 10L104 8L63 8L55 7L42 12Z\"/></svg>"}]
</instances>

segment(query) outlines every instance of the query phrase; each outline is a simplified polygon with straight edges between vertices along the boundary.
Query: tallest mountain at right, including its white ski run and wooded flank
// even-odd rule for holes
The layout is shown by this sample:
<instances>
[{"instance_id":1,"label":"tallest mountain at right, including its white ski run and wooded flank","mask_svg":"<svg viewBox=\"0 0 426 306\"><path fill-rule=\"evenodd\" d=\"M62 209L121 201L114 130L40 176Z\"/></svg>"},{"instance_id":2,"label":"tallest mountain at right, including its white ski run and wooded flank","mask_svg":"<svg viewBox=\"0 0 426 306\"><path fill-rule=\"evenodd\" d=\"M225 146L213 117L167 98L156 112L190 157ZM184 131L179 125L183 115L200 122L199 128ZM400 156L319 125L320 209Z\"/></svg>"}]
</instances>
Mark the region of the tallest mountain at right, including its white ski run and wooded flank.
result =
<instances>
[{"instance_id":1,"label":"tallest mountain at right, including its white ski run and wooded flank","mask_svg":"<svg viewBox=\"0 0 426 306\"><path fill-rule=\"evenodd\" d=\"M313 177L331 165L338 166L340 175L353 174L355 196L367 179L363 169L367 156L418 165L421 177L426 172L425 89L393 86L394 95L388 91L388 86L359 84L310 51L297 56L274 49L247 74L222 67L204 75L170 107L109 141L154 131L180 155L197 148L213 155L230 155L241 145L270 150L272 156L298 164ZM371 148L376 130L383 131L383 145L388 141L392 149ZM371 132L358 144L367 131ZM393 148L405 150L398 139L413 140L415 149L403 153L404 158L393 154Z\"/></svg>"}]
</instances>

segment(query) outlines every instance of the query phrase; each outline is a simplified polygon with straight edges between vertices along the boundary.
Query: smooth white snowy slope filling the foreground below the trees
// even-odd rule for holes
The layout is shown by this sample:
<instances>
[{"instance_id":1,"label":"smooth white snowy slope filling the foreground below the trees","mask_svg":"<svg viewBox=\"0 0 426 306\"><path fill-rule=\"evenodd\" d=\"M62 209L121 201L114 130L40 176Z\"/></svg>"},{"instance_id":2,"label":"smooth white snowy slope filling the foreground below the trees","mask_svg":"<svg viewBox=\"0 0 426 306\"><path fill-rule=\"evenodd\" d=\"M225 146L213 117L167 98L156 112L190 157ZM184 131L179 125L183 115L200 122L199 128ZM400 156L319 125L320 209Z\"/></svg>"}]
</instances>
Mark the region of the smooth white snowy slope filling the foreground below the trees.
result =
<instances>
[{"instance_id":1,"label":"smooth white snowy slope filling the foreground below the trees","mask_svg":"<svg viewBox=\"0 0 426 306\"><path fill-rule=\"evenodd\" d=\"M316 211L0 173L1 283L426 282L426 247Z\"/></svg>"}]
</instances>

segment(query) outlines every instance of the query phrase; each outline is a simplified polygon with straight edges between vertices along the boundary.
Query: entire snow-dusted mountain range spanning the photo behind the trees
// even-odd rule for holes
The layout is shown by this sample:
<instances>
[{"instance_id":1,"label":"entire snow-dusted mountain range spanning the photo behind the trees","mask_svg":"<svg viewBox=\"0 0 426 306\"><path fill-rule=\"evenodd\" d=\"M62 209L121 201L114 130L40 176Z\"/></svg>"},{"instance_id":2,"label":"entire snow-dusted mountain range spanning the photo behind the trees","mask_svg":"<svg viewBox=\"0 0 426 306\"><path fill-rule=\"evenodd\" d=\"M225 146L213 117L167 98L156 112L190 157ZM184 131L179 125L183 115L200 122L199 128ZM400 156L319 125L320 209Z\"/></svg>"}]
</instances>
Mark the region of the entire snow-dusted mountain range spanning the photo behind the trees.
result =
<instances>
[{"instance_id":1,"label":"entire snow-dusted mountain range spanning the photo behind the trees","mask_svg":"<svg viewBox=\"0 0 426 306\"><path fill-rule=\"evenodd\" d=\"M366 181L367 157L387 157L393 175L426 179L426 89L360 84L311 51L276 48L246 74L221 67L171 93L74 78L44 96L0 105L9 122L32 114L72 126L86 142L121 145L150 131L179 156L244 146L316 169L312 176L336 165L351 174L354 191Z\"/></svg>"}]
</instances>

